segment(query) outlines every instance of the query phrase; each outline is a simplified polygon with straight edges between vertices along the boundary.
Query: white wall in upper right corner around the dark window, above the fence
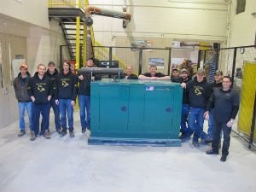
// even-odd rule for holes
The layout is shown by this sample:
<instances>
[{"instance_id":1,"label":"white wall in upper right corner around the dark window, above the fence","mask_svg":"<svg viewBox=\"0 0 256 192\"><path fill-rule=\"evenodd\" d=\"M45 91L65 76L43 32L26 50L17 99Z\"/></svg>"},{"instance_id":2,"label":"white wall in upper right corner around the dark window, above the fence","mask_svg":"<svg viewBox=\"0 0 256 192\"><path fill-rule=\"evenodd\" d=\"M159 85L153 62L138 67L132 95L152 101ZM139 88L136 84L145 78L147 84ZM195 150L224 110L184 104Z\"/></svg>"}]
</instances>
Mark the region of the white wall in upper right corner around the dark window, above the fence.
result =
<instances>
[{"instance_id":1,"label":"white wall in upper right corner around the dark window, above the fence","mask_svg":"<svg viewBox=\"0 0 256 192\"><path fill-rule=\"evenodd\" d=\"M252 15L255 13L254 15ZM230 1L228 47L253 45L256 33L256 1L247 0L245 12L236 15L236 0Z\"/></svg>"}]
</instances>

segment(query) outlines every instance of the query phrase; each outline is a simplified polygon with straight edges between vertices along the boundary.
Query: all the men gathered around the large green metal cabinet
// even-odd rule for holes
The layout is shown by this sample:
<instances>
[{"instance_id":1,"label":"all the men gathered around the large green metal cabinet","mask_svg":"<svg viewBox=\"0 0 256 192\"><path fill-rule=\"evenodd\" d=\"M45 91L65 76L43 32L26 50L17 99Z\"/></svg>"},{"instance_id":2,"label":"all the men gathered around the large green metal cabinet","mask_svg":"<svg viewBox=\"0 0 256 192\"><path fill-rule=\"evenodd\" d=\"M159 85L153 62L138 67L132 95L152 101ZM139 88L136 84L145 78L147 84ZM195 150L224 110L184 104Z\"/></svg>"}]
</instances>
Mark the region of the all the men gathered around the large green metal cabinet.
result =
<instances>
[{"instance_id":1,"label":"all the men gathered around the large green metal cabinet","mask_svg":"<svg viewBox=\"0 0 256 192\"><path fill-rule=\"evenodd\" d=\"M92 58L86 61L86 67L95 67ZM178 70L172 68L172 75L157 72L157 67L149 67L148 73L138 77L132 73L132 67L126 69L121 78L142 80L171 80L180 83L183 88L183 105L180 124L180 139L189 141L195 147L201 143L212 143L212 149L207 154L218 154L221 131L224 142L221 160L225 161L229 154L230 132L239 109L239 96L231 90L232 79L223 76L217 70L214 73L214 83L207 83L205 72L198 69L196 75L191 77L187 68ZM34 141L38 135L49 136L49 111L53 108L55 113L55 130L64 137L67 127L70 137L73 132L73 106L76 96L79 98L80 123L82 132L90 130L90 82L101 79L100 76L90 74L73 74L70 63L63 63L61 73L55 68L54 62L49 62L48 69L44 64L38 65L38 72L33 77L27 71L26 64L20 65L20 73L14 81L15 94L20 110L20 133L25 131L24 112L27 110L30 139ZM39 131L39 117L42 115L41 130ZM208 120L207 133L203 131L204 120ZM68 124L67 124L68 121Z\"/></svg>"}]
</instances>

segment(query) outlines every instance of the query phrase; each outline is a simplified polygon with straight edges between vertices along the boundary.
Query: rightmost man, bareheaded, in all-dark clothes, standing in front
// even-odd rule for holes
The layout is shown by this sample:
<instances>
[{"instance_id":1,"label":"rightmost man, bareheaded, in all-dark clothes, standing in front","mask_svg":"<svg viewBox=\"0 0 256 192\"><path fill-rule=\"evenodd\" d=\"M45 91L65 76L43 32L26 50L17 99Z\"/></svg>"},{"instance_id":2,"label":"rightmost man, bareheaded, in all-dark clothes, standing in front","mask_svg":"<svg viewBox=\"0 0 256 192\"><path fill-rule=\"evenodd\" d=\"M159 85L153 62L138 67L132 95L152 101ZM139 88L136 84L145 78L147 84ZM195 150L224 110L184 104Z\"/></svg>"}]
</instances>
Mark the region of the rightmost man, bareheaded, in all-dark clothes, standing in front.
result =
<instances>
[{"instance_id":1,"label":"rightmost man, bareheaded, in all-dark clothes, standing in front","mask_svg":"<svg viewBox=\"0 0 256 192\"><path fill-rule=\"evenodd\" d=\"M214 129L212 149L207 151L207 154L218 154L218 144L220 141L220 131L223 131L224 141L222 147L221 161L226 161L230 148L230 133L232 125L236 119L236 114L239 109L239 95L236 91L231 90L232 79L229 76L224 76L222 80L222 88L215 89L207 104L206 119L209 118L209 109L214 104Z\"/></svg>"}]
</instances>

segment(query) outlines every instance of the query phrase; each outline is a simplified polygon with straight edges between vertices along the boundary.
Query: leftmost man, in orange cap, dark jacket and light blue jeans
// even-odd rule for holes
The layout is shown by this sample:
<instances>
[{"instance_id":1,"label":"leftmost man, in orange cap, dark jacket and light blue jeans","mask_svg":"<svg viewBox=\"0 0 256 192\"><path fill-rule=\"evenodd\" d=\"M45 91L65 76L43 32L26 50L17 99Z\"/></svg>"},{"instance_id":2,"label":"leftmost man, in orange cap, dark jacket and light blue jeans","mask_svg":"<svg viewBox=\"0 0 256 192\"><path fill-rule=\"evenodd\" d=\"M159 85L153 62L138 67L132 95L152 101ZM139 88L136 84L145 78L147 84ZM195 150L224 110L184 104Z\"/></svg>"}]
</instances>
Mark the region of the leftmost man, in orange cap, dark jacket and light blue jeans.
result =
<instances>
[{"instance_id":1,"label":"leftmost man, in orange cap, dark jacket and light blue jeans","mask_svg":"<svg viewBox=\"0 0 256 192\"><path fill-rule=\"evenodd\" d=\"M30 78L30 73L27 72L27 65L22 63L20 65L20 73L14 80L15 96L18 100L20 114L20 133L18 137L24 136L26 133L25 110L29 120L29 128L32 130L32 100L27 94L27 84Z\"/></svg>"}]
</instances>

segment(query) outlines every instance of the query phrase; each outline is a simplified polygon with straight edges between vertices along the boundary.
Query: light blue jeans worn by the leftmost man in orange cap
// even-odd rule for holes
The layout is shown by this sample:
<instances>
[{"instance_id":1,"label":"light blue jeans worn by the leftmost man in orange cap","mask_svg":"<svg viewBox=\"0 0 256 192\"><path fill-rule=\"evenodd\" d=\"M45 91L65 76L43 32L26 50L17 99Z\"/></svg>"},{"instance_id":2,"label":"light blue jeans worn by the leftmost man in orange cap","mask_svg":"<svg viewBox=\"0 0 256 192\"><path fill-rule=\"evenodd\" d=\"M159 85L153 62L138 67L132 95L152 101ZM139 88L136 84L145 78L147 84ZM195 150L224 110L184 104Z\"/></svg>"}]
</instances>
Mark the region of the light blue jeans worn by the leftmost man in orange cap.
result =
<instances>
[{"instance_id":1,"label":"light blue jeans worn by the leftmost man in orange cap","mask_svg":"<svg viewBox=\"0 0 256 192\"><path fill-rule=\"evenodd\" d=\"M20 130L25 130L25 110L28 117L29 129L32 130L32 102L18 102L20 114Z\"/></svg>"}]
</instances>

